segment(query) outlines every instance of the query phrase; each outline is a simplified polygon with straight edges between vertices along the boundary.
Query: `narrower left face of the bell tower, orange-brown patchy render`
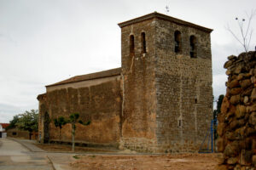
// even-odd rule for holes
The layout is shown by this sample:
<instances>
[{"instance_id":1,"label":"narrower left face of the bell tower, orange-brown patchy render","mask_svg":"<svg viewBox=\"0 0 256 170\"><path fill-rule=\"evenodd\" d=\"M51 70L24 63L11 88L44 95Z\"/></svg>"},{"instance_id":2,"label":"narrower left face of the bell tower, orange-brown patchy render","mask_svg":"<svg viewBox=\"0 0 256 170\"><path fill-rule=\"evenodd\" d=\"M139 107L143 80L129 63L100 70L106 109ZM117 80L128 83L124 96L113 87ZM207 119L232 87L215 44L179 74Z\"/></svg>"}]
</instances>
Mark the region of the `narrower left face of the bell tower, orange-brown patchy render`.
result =
<instances>
[{"instance_id":1,"label":"narrower left face of the bell tower, orange-brown patchy render","mask_svg":"<svg viewBox=\"0 0 256 170\"><path fill-rule=\"evenodd\" d=\"M142 53L141 34L145 32L146 53ZM130 36L135 54L130 54ZM122 28L122 75L124 103L120 148L152 152L156 148L156 97L154 81L154 20Z\"/></svg>"}]
</instances>

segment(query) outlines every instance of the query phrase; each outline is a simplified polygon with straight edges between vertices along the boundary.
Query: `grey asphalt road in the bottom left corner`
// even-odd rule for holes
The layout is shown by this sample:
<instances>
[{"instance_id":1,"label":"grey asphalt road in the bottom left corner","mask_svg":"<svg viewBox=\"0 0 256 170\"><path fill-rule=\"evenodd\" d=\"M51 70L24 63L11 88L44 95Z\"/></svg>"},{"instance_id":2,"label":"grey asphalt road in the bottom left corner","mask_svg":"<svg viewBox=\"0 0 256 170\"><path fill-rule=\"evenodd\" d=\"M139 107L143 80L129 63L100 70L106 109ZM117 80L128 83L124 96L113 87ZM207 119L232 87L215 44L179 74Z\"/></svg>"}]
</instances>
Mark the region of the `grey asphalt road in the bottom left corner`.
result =
<instances>
[{"instance_id":1,"label":"grey asphalt road in the bottom left corner","mask_svg":"<svg viewBox=\"0 0 256 170\"><path fill-rule=\"evenodd\" d=\"M53 167L44 153L31 152L10 139L0 139L0 169L53 170Z\"/></svg>"}]
</instances>

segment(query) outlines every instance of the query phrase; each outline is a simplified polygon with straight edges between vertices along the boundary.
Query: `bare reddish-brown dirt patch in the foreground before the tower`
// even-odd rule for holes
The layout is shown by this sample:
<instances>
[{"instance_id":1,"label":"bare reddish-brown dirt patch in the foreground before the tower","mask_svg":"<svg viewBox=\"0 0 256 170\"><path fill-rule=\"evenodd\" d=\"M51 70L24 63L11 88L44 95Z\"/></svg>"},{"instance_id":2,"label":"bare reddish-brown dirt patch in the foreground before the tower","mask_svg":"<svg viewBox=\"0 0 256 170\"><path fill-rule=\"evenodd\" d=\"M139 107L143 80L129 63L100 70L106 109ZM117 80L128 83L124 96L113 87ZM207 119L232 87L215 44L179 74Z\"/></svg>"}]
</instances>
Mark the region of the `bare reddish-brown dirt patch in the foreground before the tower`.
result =
<instances>
[{"instance_id":1,"label":"bare reddish-brown dirt patch in the foreground before the tower","mask_svg":"<svg viewBox=\"0 0 256 170\"><path fill-rule=\"evenodd\" d=\"M213 170L216 154L73 156L73 170Z\"/></svg>"}]
</instances>

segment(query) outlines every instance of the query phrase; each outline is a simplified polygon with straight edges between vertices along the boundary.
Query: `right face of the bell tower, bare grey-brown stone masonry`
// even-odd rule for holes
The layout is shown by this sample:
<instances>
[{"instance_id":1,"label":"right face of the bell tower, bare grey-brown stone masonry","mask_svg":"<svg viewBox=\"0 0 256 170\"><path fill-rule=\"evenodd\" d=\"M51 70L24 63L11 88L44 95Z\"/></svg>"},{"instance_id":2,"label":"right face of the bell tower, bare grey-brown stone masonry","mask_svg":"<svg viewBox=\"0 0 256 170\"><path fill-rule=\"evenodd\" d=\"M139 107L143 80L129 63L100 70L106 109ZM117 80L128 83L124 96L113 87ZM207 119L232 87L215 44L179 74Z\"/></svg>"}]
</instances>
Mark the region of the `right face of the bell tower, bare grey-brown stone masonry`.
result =
<instances>
[{"instance_id":1,"label":"right face of the bell tower, bare grey-brown stone masonry","mask_svg":"<svg viewBox=\"0 0 256 170\"><path fill-rule=\"evenodd\" d=\"M181 32L181 52L174 52L174 32ZM189 37L196 38L190 58ZM195 152L212 119L212 54L210 33L156 22L157 143L160 152Z\"/></svg>"}]
</instances>

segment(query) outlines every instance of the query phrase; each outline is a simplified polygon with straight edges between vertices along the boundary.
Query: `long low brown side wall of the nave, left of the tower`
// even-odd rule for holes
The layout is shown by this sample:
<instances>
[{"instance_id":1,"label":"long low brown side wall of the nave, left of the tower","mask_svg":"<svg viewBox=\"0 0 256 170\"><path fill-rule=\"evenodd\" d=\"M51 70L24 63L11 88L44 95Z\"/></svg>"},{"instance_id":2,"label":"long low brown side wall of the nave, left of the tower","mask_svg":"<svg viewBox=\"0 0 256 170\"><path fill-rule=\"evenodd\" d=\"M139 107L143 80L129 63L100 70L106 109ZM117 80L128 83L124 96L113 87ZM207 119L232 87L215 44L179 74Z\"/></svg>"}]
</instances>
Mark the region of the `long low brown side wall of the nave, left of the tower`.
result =
<instances>
[{"instance_id":1,"label":"long low brown side wall of the nave, left of the tower","mask_svg":"<svg viewBox=\"0 0 256 170\"><path fill-rule=\"evenodd\" d=\"M69 117L79 113L84 122L90 120L90 126L77 124L75 140L78 143L119 146L120 112L121 112L120 79L91 85L85 88L61 88L46 94L46 100L40 102L41 114L49 113L50 120L58 116ZM39 121L42 122L42 121ZM39 133L44 136L44 124L39 124ZM59 141L59 130L53 121L49 123L49 140ZM61 130L61 141L71 142L71 125Z\"/></svg>"}]
</instances>

